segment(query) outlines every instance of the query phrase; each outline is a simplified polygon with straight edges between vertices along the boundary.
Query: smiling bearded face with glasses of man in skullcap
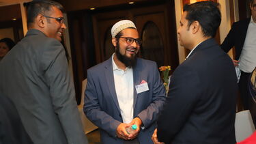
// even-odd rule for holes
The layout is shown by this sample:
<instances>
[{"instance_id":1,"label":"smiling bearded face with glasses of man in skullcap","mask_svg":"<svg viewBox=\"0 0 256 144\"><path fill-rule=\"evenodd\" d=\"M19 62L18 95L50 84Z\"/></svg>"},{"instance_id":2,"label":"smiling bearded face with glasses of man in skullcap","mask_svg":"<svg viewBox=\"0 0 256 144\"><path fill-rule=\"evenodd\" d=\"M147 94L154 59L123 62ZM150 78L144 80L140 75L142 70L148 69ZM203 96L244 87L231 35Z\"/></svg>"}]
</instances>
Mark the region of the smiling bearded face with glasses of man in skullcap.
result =
<instances>
[{"instance_id":1,"label":"smiling bearded face with glasses of man in skullcap","mask_svg":"<svg viewBox=\"0 0 256 144\"><path fill-rule=\"evenodd\" d=\"M117 59L124 63L126 67L132 66L136 61L136 55L139 52L140 45L137 44L134 40L132 44L127 43L126 38L139 38L139 33L137 29L124 29L121 31L122 36L119 38L118 42L114 38L113 45L115 46L115 53ZM129 39L128 39L129 40Z\"/></svg>"}]
</instances>

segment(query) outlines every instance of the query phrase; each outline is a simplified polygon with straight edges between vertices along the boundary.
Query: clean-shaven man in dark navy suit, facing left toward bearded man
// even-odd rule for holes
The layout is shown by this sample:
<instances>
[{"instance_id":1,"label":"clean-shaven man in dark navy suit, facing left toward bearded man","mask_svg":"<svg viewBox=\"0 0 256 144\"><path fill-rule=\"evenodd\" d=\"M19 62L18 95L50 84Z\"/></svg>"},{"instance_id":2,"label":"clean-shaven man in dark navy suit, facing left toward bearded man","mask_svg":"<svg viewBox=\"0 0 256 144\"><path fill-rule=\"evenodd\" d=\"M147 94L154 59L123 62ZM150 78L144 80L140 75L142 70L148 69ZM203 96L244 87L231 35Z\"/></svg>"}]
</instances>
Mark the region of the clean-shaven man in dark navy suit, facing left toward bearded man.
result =
<instances>
[{"instance_id":1,"label":"clean-shaven man in dark navy suit, facing left toward bearded man","mask_svg":"<svg viewBox=\"0 0 256 144\"><path fill-rule=\"evenodd\" d=\"M171 76L152 136L155 143L236 143L238 85L231 59L214 40L220 23L218 3L184 6L177 35L190 53Z\"/></svg>"}]
</instances>

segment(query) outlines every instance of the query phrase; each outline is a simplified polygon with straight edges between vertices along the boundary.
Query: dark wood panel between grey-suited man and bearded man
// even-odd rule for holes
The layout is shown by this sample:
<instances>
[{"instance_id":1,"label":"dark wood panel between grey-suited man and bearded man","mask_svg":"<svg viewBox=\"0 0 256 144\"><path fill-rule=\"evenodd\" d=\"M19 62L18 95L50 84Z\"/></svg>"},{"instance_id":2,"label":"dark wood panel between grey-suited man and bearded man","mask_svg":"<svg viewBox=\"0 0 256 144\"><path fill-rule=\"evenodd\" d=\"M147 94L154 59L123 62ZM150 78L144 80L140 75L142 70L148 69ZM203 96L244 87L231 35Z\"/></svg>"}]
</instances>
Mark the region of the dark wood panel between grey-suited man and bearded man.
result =
<instances>
[{"instance_id":1,"label":"dark wood panel between grey-suited man and bearded man","mask_svg":"<svg viewBox=\"0 0 256 144\"><path fill-rule=\"evenodd\" d=\"M68 25L76 100L80 104L82 81L87 76L87 69L96 64L91 16L72 12L68 14Z\"/></svg>"}]
</instances>

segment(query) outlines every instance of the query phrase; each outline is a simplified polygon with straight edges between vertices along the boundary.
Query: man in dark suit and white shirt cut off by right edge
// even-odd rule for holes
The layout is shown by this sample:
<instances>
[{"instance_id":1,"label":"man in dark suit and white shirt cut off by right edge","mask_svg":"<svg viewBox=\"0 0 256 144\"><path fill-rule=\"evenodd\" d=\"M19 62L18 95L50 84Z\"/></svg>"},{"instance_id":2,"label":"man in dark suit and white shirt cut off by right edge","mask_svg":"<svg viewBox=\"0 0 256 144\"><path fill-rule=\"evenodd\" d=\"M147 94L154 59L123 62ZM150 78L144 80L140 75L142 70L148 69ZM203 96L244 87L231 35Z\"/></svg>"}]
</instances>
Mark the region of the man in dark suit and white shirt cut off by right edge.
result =
<instances>
[{"instance_id":1,"label":"man in dark suit and white shirt cut off by right edge","mask_svg":"<svg viewBox=\"0 0 256 144\"><path fill-rule=\"evenodd\" d=\"M249 109L248 79L256 67L256 0L250 0L251 18L233 23L221 48L226 53L235 46L236 57L233 64L241 70L239 90L244 109ZM254 120L255 121L255 120Z\"/></svg>"}]
</instances>

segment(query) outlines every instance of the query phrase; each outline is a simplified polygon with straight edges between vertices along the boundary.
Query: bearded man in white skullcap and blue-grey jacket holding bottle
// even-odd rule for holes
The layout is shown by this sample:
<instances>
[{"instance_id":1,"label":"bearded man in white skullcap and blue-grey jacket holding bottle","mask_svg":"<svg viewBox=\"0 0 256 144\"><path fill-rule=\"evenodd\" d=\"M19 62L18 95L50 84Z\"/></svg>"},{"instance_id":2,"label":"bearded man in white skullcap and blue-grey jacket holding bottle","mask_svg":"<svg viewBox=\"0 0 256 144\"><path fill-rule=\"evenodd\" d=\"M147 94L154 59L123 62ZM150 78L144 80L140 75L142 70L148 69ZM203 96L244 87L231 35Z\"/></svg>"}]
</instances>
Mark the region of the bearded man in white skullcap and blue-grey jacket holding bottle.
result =
<instances>
[{"instance_id":1,"label":"bearded man in white skullcap and blue-grey jacket holding bottle","mask_svg":"<svg viewBox=\"0 0 256 144\"><path fill-rule=\"evenodd\" d=\"M85 115L100 128L101 143L152 143L165 101L158 68L137 58L141 40L132 21L115 23L111 35L115 53L87 72ZM129 134L126 128L133 125L137 129Z\"/></svg>"}]
</instances>

